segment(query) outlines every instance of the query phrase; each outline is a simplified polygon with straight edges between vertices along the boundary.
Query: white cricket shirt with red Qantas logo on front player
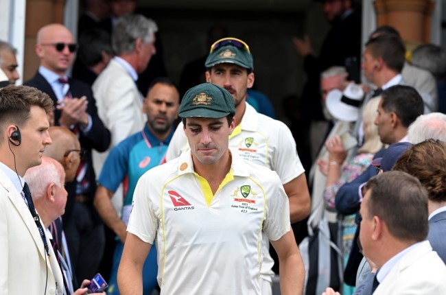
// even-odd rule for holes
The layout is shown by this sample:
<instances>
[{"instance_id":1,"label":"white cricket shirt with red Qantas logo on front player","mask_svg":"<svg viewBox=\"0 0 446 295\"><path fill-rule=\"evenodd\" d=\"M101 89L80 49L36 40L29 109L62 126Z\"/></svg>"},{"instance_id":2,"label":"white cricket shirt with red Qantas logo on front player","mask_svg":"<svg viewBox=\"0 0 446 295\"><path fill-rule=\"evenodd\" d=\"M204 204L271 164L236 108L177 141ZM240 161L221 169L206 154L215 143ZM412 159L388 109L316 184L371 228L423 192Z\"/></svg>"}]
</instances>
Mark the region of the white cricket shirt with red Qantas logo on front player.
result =
<instances>
[{"instance_id":1,"label":"white cricket shirt with red Qantas logo on front player","mask_svg":"<svg viewBox=\"0 0 446 295\"><path fill-rule=\"evenodd\" d=\"M275 172L232 155L215 196L190 152L139 179L128 232L156 241L162 294L260 294L261 233L290 231L289 202Z\"/></svg>"}]
</instances>

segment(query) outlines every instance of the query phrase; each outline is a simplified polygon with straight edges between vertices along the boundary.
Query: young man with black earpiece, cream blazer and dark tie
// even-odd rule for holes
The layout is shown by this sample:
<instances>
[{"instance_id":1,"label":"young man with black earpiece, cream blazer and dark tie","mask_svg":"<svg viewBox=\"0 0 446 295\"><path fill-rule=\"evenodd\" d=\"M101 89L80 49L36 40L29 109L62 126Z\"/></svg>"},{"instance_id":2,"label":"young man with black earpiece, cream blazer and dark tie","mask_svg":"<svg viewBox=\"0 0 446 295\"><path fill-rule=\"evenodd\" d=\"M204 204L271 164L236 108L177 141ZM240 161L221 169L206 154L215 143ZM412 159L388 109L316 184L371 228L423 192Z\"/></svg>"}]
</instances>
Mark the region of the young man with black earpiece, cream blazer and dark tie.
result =
<instances>
[{"instance_id":1,"label":"young man with black earpiece, cream blazer and dark tie","mask_svg":"<svg viewBox=\"0 0 446 295\"><path fill-rule=\"evenodd\" d=\"M2 294L62 294L62 273L23 175L40 165L51 144L53 102L36 88L0 89L0 290Z\"/></svg>"}]
</instances>

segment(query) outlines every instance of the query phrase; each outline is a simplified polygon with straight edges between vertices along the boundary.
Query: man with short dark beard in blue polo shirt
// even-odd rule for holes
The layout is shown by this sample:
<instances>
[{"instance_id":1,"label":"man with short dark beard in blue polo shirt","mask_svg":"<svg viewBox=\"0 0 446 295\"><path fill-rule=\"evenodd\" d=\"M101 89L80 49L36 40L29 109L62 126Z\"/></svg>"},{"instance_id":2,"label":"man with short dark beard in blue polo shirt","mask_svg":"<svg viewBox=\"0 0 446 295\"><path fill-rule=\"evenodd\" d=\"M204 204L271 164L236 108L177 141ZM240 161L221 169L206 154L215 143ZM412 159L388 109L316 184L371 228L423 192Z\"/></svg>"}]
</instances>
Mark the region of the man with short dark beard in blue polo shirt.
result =
<instances>
[{"instance_id":1,"label":"man with short dark beard in blue polo shirt","mask_svg":"<svg viewBox=\"0 0 446 295\"><path fill-rule=\"evenodd\" d=\"M124 139L111 150L97 180L95 207L104 223L119 237L113 255L108 294L118 294L116 275L126 241L134 188L141 175L163 162L167 145L174 133L172 125L178 118L179 101L178 89L171 80L167 78L154 80L143 102L143 111L147 115L144 129ZM111 198L119 184L127 178L124 206L119 217L113 208ZM150 294L157 285L157 269L156 248L152 247L143 268L144 294Z\"/></svg>"}]
</instances>

